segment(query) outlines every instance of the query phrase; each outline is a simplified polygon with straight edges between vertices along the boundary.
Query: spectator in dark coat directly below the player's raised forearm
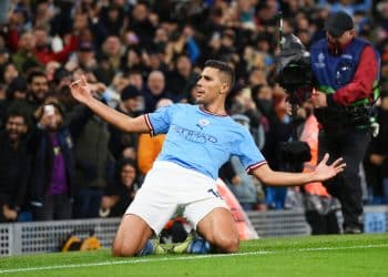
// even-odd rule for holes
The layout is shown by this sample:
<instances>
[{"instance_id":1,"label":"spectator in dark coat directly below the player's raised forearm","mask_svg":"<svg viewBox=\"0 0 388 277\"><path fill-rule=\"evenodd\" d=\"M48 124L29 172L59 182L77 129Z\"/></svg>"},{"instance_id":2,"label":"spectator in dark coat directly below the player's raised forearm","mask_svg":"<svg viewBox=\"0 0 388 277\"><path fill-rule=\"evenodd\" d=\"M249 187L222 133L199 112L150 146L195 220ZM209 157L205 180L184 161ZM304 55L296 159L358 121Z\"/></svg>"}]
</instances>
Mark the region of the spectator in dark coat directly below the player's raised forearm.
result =
<instances>
[{"instance_id":1,"label":"spectator in dark coat directly below the player's raised forearm","mask_svg":"<svg viewBox=\"0 0 388 277\"><path fill-rule=\"evenodd\" d=\"M95 95L102 101L101 95ZM113 171L113 156L109 151L109 125L82 106L74 107L69 116L74 120L82 117L82 122L78 124L79 132L73 136L75 155L73 217L99 217L101 198Z\"/></svg>"}]
</instances>

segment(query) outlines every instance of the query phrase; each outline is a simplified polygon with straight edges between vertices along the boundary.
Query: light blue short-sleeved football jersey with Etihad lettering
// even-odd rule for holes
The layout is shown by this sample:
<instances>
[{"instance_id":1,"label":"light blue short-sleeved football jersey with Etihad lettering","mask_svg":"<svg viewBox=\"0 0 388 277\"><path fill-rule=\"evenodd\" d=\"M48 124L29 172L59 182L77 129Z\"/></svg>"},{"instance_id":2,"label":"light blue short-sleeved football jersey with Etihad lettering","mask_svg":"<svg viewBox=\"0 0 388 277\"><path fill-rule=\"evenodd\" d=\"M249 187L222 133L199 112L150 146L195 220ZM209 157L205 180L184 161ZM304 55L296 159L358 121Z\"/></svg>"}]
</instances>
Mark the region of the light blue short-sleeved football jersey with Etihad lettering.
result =
<instances>
[{"instance_id":1,"label":"light blue short-sleeved football jersey with Etihad lettering","mask_svg":"<svg viewBox=\"0 0 388 277\"><path fill-rule=\"evenodd\" d=\"M247 172L266 163L249 131L231 116L198 105L174 104L145 114L152 135L166 134L157 161L169 161L214 179L219 167L237 156Z\"/></svg>"}]
</instances>

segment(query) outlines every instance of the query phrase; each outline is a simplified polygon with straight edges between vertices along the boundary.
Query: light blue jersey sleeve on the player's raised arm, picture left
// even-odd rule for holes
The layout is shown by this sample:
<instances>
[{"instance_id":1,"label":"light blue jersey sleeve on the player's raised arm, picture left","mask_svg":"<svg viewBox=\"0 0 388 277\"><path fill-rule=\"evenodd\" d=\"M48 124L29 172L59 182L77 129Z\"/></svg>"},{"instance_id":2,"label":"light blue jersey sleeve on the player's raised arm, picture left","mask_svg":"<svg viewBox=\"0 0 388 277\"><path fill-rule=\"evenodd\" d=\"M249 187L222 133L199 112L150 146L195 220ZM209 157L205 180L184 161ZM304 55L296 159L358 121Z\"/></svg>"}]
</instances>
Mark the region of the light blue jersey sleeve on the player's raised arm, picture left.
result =
<instances>
[{"instance_id":1,"label":"light blue jersey sleeve on the player's raised arm, picture left","mask_svg":"<svg viewBox=\"0 0 388 277\"><path fill-rule=\"evenodd\" d=\"M145 114L151 135L167 133L171 125L171 114L174 105L164 106L153 113Z\"/></svg>"}]
</instances>

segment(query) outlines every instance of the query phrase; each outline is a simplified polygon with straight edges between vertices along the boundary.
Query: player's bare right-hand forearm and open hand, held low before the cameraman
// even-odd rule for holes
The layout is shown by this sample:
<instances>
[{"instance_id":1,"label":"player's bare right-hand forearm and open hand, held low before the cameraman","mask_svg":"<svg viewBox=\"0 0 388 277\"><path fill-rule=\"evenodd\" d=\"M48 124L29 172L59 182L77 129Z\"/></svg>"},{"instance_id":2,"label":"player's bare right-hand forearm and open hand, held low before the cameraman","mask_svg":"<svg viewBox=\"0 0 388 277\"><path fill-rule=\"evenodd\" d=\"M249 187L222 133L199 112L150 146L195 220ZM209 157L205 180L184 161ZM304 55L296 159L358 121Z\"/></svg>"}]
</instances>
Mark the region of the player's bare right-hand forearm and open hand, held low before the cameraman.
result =
<instances>
[{"instance_id":1,"label":"player's bare right-hand forearm and open hand, held low before the cameraman","mask_svg":"<svg viewBox=\"0 0 388 277\"><path fill-rule=\"evenodd\" d=\"M315 171L309 173L275 172L265 164L256 168L253 174L269 186L299 186L312 182L323 182L336 176L346 166L343 158L327 164L328 158L329 155L326 154Z\"/></svg>"}]
</instances>

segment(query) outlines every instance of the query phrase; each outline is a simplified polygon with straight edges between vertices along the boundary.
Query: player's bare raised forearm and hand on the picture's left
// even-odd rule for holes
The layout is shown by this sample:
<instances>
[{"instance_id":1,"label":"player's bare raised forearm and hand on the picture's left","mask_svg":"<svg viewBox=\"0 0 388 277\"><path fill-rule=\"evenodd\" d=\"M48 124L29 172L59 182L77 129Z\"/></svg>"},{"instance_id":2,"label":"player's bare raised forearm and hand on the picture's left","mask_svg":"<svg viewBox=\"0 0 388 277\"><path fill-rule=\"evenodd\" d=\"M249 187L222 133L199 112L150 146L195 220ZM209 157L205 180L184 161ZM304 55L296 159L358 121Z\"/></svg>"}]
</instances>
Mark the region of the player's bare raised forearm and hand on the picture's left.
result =
<instances>
[{"instance_id":1,"label":"player's bare raised forearm and hand on the picture's left","mask_svg":"<svg viewBox=\"0 0 388 277\"><path fill-rule=\"evenodd\" d=\"M125 132L144 133L150 131L143 115L132 119L93 98L90 85L84 76L72 82L70 84L70 90L76 101L89 106L95 114L112 125Z\"/></svg>"}]
</instances>

